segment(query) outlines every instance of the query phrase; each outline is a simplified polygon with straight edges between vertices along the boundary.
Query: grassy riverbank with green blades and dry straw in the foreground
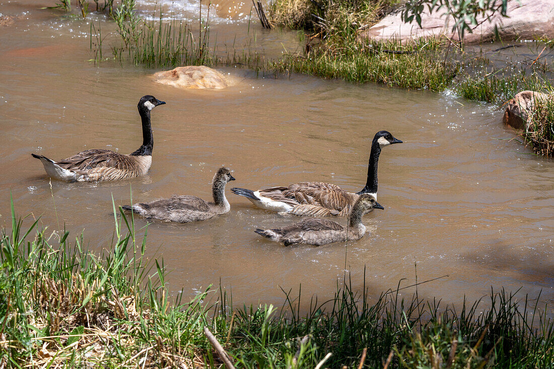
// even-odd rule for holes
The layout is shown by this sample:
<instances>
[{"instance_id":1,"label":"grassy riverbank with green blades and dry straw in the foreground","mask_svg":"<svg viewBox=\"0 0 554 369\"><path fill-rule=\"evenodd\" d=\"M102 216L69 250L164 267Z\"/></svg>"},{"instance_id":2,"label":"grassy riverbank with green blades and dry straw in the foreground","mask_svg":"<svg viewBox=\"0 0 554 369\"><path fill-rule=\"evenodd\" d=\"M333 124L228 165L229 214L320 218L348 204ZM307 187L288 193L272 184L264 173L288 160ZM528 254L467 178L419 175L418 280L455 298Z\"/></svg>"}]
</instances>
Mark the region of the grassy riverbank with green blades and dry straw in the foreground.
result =
<instances>
[{"instance_id":1,"label":"grassy riverbank with green blades and dry straw in the foreground","mask_svg":"<svg viewBox=\"0 0 554 369\"><path fill-rule=\"evenodd\" d=\"M115 212L115 208L114 208ZM191 301L170 296L163 260L145 263L146 235L115 221L111 245L88 252L82 236L22 228L12 204L0 252L0 364L3 367L219 367L204 328L237 367L549 367L554 325L538 302L510 291L463 309L416 294L383 293L337 280L335 298L299 309L289 291L281 309L234 307L224 289ZM126 233L127 232L127 233ZM538 299L536 300L538 301Z\"/></svg>"}]
</instances>

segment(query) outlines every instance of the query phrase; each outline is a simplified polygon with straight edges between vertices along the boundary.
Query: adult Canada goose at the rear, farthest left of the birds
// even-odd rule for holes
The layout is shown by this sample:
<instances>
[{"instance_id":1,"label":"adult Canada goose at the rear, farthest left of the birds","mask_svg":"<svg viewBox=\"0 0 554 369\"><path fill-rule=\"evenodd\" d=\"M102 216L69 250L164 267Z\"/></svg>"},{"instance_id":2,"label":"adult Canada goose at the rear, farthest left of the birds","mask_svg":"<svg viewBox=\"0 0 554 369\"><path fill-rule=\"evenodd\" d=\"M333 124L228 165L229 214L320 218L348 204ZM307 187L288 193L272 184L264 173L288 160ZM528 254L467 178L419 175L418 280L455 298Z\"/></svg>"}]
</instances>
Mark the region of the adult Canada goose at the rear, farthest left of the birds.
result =
<instances>
[{"instance_id":1,"label":"adult Canada goose at the rear, farthest left of the birds","mask_svg":"<svg viewBox=\"0 0 554 369\"><path fill-rule=\"evenodd\" d=\"M142 146L129 155L102 148L85 150L64 160L53 161L44 155L40 159L48 176L61 181L112 181L144 175L152 165L152 126L150 111L165 104L154 96L142 96L137 107L142 119Z\"/></svg>"}]
</instances>

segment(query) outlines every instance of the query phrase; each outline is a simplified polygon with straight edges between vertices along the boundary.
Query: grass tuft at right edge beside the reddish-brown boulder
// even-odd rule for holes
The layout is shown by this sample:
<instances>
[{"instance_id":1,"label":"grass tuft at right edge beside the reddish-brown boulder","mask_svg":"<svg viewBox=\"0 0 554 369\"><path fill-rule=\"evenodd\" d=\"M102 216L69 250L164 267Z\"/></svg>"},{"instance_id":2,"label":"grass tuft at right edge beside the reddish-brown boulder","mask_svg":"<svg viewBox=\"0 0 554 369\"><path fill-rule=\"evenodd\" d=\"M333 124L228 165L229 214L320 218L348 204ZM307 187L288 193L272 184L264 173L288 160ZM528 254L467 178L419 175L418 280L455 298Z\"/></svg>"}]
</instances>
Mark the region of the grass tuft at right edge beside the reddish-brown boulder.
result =
<instances>
[{"instance_id":1,"label":"grass tuft at right edge beside the reddish-brown boulder","mask_svg":"<svg viewBox=\"0 0 554 369\"><path fill-rule=\"evenodd\" d=\"M535 99L526 124L525 140L535 153L554 156L554 95Z\"/></svg>"}]
</instances>

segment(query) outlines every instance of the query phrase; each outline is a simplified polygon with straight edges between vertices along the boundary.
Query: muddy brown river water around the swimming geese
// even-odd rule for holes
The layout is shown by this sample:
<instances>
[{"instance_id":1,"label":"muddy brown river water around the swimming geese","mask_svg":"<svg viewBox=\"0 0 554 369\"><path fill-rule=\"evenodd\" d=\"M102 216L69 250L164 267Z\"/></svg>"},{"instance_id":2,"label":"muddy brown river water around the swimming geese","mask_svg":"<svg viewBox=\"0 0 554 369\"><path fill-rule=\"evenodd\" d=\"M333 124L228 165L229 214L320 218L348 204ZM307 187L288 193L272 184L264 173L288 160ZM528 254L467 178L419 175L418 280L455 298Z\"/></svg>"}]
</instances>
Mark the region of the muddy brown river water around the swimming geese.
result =
<instances>
[{"instance_id":1,"label":"muddy brown river water around the swimming geese","mask_svg":"<svg viewBox=\"0 0 554 369\"><path fill-rule=\"evenodd\" d=\"M88 61L89 24L38 9L48 1L0 4L2 14L18 16L13 26L0 28L3 225L9 225L12 193L18 214L40 216L50 231L84 230L86 244L100 252L114 231L112 196L116 205L129 203L131 191L134 201L209 198L222 165L233 170L237 181L230 184L237 187L314 180L358 191L372 137L385 129L404 143L381 154L385 210L364 218L369 233L361 240L319 248L271 243L254 229L290 219L227 191L228 214L202 223L150 224L147 258L165 260L173 293L192 296L221 280L239 306L280 304L280 288L297 290L300 283L305 297L329 298L345 260L356 288L366 269L372 298L403 278L401 286L414 283L417 263L418 281L448 275L420 285L420 296L459 303L463 295L481 298L492 286L521 288L520 295L532 299L542 290L542 299L554 299L554 162L512 140L516 133L501 124L495 106L302 75L256 78L234 68L220 69L237 81L228 89L179 90L153 83L155 70ZM222 43L235 34L247 42L252 33L246 27L244 19L213 24ZM297 47L297 36L259 30L256 42L280 53L283 46ZM87 148L134 151L141 143L136 104L145 94L167 102L152 112L148 175L52 181L50 189L30 153L60 159ZM136 220L137 228L146 224Z\"/></svg>"}]
</instances>

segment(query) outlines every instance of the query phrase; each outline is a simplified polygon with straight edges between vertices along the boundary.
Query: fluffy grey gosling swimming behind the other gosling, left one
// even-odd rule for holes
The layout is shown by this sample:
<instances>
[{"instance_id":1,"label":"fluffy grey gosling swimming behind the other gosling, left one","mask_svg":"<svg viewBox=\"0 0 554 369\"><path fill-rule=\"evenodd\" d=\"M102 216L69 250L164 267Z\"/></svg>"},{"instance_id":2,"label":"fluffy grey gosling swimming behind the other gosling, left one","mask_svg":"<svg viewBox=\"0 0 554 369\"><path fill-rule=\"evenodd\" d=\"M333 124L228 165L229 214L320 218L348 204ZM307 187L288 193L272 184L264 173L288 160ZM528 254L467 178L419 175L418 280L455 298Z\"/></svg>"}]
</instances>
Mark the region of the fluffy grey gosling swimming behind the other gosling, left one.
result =
<instances>
[{"instance_id":1,"label":"fluffy grey gosling swimming behind the other gosling, left one","mask_svg":"<svg viewBox=\"0 0 554 369\"><path fill-rule=\"evenodd\" d=\"M229 202L225 197L225 184L235 178L227 168L219 168L213 176L213 202L207 202L196 196L177 196L161 198L152 202L139 202L133 206L122 206L145 218L155 218L166 222L197 222L213 218L217 214L224 214L230 210Z\"/></svg>"}]
</instances>

